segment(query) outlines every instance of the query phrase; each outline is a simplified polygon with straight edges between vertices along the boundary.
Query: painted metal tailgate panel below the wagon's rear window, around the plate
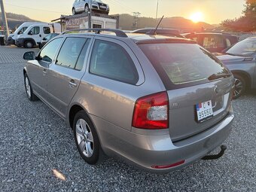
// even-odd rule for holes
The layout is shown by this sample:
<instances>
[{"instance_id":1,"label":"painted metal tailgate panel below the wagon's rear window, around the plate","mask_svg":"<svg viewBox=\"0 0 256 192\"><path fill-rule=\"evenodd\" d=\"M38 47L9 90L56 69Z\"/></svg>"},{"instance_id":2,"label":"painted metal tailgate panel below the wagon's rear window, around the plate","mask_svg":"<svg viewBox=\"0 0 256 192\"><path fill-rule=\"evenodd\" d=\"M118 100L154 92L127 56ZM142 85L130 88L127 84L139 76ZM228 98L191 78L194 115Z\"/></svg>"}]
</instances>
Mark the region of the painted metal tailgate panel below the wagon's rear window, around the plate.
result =
<instances>
[{"instance_id":1,"label":"painted metal tailgate panel below the wagon's rear window, around the plate","mask_svg":"<svg viewBox=\"0 0 256 192\"><path fill-rule=\"evenodd\" d=\"M225 78L208 84L169 90L169 131L172 141L193 136L222 120L230 106L232 81L232 78ZM212 102L213 117L200 122L197 105L209 101Z\"/></svg>"}]
</instances>

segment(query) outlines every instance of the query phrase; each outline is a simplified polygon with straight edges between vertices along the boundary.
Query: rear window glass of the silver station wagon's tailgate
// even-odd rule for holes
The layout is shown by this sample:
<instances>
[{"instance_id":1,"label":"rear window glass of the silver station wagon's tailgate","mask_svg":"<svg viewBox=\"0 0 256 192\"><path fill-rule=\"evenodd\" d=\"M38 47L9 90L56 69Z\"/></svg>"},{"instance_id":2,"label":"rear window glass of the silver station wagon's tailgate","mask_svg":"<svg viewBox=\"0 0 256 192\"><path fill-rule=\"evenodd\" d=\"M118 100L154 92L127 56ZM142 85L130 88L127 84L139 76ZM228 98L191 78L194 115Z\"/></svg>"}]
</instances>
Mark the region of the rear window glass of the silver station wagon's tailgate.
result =
<instances>
[{"instance_id":1,"label":"rear window glass of the silver station wagon's tailgate","mask_svg":"<svg viewBox=\"0 0 256 192\"><path fill-rule=\"evenodd\" d=\"M229 75L221 61L198 44L139 44L157 70L166 89L212 81L212 75Z\"/></svg>"}]
</instances>

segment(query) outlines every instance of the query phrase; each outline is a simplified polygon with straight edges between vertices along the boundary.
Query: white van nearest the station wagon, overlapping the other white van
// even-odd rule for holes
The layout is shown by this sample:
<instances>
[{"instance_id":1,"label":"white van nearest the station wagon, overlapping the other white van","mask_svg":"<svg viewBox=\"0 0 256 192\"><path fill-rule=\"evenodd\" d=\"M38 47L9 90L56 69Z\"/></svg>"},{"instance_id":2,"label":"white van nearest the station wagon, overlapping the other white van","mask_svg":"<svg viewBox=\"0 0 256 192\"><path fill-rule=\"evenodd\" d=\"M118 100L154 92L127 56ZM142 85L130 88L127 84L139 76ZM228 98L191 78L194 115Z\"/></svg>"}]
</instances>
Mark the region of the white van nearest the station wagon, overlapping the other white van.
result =
<instances>
[{"instance_id":1,"label":"white van nearest the station wagon, overlapping the other white van","mask_svg":"<svg viewBox=\"0 0 256 192\"><path fill-rule=\"evenodd\" d=\"M23 34L17 36L17 47L32 48L38 46L41 40L52 32L61 32L59 23L40 23L29 26Z\"/></svg>"}]
</instances>

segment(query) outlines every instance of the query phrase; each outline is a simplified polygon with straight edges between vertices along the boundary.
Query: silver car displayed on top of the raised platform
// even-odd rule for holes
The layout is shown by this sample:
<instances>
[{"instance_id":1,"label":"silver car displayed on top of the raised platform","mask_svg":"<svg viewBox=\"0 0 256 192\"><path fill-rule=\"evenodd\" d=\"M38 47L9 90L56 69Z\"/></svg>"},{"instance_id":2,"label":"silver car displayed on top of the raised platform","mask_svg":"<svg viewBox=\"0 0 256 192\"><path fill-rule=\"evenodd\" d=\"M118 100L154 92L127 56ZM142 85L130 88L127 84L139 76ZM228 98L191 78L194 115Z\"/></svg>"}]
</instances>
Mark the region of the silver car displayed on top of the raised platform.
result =
<instances>
[{"instance_id":1,"label":"silver car displayed on top of the raised platform","mask_svg":"<svg viewBox=\"0 0 256 192\"><path fill-rule=\"evenodd\" d=\"M101 12L104 14L109 13L109 7L101 0L92 0L92 11ZM75 0L72 6L72 14L88 13L90 11L90 0Z\"/></svg>"}]
</instances>

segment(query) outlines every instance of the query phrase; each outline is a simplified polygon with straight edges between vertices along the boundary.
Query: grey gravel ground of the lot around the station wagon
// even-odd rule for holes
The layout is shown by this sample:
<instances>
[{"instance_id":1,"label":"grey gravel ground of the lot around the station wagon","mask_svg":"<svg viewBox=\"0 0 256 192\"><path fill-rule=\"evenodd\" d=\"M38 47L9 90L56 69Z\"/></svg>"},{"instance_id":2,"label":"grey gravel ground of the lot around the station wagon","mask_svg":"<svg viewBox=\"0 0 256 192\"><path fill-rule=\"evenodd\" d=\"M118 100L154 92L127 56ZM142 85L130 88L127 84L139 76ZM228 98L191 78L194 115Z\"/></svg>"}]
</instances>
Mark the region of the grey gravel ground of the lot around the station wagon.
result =
<instances>
[{"instance_id":1,"label":"grey gravel ground of the lot around the station wagon","mask_svg":"<svg viewBox=\"0 0 256 192\"><path fill-rule=\"evenodd\" d=\"M0 60L0 191L256 191L256 91L233 102L224 157L156 175L112 158L85 163L63 120L43 102L26 99L24 63L14 61Z\"/></svg>"}]
</instances>

